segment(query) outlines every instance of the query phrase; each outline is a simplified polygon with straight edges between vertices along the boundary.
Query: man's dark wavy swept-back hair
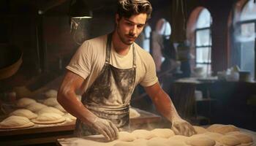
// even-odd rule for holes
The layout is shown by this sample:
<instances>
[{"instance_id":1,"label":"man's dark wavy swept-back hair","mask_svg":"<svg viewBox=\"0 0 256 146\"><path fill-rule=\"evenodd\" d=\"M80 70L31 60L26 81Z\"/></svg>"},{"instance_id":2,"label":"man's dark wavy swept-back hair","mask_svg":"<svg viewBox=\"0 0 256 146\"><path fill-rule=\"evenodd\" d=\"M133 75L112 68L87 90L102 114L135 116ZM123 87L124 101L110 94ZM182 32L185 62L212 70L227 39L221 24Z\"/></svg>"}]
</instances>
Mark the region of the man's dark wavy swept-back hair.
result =
<instances>
[{"instance_id":1,"label":"man's dark wavy swept-back hair","mask_svg":"<svg viewBox=\"0 0 256 146\"><path fill-rule=\"evenodd\" d=\"M118 0L117 14L120 18L129 18L132 15L146 13L151 18L152 7L148 0Z\"/></svg>"}]
</instances>

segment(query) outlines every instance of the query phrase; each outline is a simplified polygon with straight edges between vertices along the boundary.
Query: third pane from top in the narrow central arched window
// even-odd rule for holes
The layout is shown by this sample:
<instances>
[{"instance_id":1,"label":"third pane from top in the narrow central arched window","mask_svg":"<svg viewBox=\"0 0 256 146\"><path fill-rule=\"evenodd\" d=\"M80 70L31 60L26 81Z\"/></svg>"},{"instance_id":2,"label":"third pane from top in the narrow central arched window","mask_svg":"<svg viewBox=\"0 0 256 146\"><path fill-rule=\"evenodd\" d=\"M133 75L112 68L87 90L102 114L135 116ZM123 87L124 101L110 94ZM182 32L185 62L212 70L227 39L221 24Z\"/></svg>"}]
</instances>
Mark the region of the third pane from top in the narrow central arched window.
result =
<instances>
[{"instance_id":1,"label":"third pane from top in the narrow central arched window","mask_svg":"<svg viewBox=\"0 0 256 146\"><path fill-rule=\"evenodd\" d=\"M197 47L196 63L211 63L211 47Z\"/></svg>"}]
</instances>

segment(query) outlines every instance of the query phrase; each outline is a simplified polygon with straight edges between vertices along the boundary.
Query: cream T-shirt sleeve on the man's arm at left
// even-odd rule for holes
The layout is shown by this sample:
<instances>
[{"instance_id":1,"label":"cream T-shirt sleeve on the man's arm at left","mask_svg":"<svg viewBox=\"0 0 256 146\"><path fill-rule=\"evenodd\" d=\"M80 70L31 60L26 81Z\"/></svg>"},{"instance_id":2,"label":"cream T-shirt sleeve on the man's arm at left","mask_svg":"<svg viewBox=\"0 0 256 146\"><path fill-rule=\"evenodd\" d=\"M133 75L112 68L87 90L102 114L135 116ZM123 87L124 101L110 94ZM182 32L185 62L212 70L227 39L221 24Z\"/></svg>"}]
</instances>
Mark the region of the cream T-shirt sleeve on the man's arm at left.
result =
<instances>
[{"instance_id":1,"label":"cream T-shirt sleeve on the man's arm at left","mask_svg":"<svg viewBox=\"0 0 256 146\"><path fill-rule=\"evenodd\" d=\"M81 45L75 55L73 55L66 69L86 79L91 72L92 53L90 43L88 41L83 42L83 45Z\"/></svg>"}]
</instances>

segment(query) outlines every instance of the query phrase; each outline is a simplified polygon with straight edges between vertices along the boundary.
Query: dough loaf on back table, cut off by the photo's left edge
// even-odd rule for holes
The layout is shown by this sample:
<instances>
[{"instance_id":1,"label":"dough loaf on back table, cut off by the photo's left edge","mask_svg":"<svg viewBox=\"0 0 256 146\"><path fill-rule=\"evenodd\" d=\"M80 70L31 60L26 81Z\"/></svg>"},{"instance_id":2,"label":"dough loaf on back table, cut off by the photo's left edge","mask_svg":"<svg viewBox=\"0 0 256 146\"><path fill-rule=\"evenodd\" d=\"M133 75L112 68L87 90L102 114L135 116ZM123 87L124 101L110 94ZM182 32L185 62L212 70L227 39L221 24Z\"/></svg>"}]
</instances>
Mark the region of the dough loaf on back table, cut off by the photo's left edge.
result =
<instances>
[{"instance_id":1,"label":"dough loaf on back table, cut off by the photo's left edge","mask_svg":"<svg viewBox=\"0 0 256 146\"><path fill-rule=\"evenodd\" d=\"M0 123L0 128L27 128L34 126L34 123L26 117L20 117L17 115L12 115Z\"/></svg>"}]
</instances>

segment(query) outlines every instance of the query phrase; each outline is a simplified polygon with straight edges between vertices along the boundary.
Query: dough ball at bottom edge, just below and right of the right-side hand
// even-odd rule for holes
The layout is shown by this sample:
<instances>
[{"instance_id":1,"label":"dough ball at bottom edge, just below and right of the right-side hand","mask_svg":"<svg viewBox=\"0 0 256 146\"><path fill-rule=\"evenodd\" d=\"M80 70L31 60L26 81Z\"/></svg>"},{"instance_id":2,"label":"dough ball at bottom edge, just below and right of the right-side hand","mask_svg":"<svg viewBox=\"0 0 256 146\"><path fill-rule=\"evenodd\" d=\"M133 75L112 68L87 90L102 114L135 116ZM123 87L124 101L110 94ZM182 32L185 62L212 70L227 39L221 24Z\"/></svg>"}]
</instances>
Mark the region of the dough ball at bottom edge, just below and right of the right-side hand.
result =
<instances>
[{"instance_id":1,"label":"dough ball at bottom edge, just below and right of the right-side hand","mask_svg":"<svg viewBox=\"0 0 256 146\"><path fill-rule=\"evenodd\" d=\"M199 134L195 135L195 137L189 137L189 139L186 140L187 145L192 146L214 146L215 141L213 139L208 138L206 135Z\"/></svg>"}]
</instances>

